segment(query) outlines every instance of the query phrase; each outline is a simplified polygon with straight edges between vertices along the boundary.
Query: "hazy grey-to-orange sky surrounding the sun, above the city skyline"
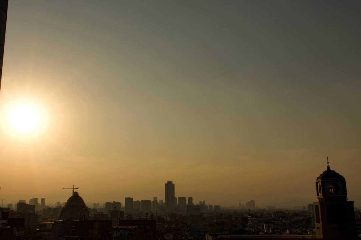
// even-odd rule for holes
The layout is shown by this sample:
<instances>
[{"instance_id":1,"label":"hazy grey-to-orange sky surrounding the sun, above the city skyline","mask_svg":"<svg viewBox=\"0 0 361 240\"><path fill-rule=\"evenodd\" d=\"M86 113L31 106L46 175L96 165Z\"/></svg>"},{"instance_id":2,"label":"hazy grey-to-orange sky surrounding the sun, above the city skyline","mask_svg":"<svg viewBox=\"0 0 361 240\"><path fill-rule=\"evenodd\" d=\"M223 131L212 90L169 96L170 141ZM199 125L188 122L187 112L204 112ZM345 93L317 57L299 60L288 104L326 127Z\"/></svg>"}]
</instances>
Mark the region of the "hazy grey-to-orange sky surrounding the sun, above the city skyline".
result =
<instances>
[{"instance_id":1,"label":"hazy grey-to-orange sky surrounding the sun, above the city skyline","mask_svg":"<svg viewBox=\"0 0 361 240\"><path fill-rule=\"evenodd\" d=\"M10 0L0 198L311 203L328 155L356 200L360 77L361 1Z\"/></svg>"}]
</instances>

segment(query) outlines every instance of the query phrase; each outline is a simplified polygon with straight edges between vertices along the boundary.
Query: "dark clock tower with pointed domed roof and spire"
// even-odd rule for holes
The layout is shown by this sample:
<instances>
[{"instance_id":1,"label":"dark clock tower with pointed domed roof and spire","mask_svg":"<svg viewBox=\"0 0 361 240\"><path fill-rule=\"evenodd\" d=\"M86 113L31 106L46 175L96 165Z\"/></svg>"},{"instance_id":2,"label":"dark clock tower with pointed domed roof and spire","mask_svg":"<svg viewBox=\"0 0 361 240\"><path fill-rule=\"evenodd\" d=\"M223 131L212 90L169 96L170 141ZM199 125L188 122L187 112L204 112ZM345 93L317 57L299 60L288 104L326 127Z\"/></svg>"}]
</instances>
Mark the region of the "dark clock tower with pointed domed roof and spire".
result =
<instances>
[{"instance_id":1,"label":"dark clock tower with pointed domed roof and spire","mask_svg":"<svg viewBox=\"0 0 361 240\"><path fill-rule=\"evenodd\" d=\"M327 169L316 179L318 201L313 202L318 238L357 237L353 201L347 201L345 178Z\"/></svg>"}]
</instances>

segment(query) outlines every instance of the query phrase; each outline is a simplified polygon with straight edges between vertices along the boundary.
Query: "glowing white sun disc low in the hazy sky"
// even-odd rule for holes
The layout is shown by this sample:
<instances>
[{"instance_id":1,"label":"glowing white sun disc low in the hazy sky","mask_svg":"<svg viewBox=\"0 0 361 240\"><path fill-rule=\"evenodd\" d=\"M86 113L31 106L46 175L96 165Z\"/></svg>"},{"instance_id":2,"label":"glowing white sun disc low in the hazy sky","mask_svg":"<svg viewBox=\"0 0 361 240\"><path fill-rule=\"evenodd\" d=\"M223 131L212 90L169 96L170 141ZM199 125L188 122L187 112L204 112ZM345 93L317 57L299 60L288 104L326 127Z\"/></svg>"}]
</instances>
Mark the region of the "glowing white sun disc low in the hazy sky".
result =
<instances>
[{"instance_id":1,"label":"glowing white sun disc low in the hazy sky","mask_svg":"<svg viewBox=\"0 0 361 240\"><path fill-rule=\"evenodd\" d=\"M10 126L19 132L29 132L39 126L39 113L31 107L20 106L14 108L9 114Z\"/></svg>"}]
</instances>

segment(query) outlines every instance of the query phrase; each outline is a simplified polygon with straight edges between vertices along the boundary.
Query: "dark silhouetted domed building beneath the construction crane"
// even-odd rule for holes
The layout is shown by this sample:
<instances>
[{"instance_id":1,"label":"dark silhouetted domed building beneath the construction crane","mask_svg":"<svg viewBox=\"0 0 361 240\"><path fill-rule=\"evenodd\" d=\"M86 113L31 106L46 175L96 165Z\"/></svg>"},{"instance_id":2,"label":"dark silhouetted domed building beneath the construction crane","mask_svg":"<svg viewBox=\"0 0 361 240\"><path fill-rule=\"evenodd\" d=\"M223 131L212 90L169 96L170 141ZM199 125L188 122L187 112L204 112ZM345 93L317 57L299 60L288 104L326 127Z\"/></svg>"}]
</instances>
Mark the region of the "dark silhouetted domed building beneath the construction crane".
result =
<instances>
[{"instance_id":1,"label":"dark silhouetted domed building beneath the construction crane","mask_svg":"<svg viewBox=\"0 0 361 240\"><path fill-rule=\"evenodd\" d=\"M86 220L89 219L88 208L78 192L74 192L60 213L60 220Z\"/></svg>"}]
</instances>

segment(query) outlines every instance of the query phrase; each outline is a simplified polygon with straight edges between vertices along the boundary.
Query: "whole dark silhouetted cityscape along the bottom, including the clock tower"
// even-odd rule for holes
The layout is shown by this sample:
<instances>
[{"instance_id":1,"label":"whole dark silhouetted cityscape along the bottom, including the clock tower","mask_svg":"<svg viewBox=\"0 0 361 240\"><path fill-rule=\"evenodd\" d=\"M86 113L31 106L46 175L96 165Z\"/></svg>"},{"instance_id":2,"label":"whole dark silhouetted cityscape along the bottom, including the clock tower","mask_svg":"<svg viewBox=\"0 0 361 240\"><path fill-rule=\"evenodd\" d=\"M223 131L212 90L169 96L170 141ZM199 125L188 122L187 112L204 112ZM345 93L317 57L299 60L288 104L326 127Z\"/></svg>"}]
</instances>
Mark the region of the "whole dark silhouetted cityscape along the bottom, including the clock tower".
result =
<instances>
[{"instance_id":1,"label":"whole dark silhouetted cityscape along the bottom, including the clock tower","mask_svg":"<svg viewBox=\"0 0 361 240\"><path fill-rule=\"evenodd\" d=\"M68 188L69 189L69 188ZM71 188L70 188L71 189ZM353 238L361 234L361 212L347 200L345 178L327 166L316 179L318 201L293 209L257 208L255 200L237 209L175 198L165 184L165 201L135 200L86 204L77 191L64 203L46 205L42 198L19 200L0 211L0 239L79 240L242 238ZM356 216L356 217L355 217ZM290 236L292 235L292 236Z\"/></svg>"}]
</instances>

